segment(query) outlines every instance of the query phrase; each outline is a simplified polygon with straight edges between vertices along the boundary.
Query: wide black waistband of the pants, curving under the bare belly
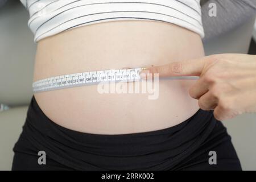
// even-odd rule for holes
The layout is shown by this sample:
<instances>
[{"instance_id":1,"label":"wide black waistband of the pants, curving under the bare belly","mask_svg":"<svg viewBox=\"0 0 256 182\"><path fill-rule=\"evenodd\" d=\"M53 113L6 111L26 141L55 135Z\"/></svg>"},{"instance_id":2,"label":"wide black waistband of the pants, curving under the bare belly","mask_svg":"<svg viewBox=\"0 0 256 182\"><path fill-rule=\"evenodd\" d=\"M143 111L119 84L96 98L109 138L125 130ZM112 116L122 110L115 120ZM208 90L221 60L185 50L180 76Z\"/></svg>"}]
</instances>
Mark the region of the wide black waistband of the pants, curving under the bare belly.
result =
<instances>
[{"instance_id":1,"label":"wide black waistband of the pants, curving under the bare belly","mask_svg":"<svg viewBox=\"0 0 256 182\"><path fill-rule=\"evenodd\" d=\"M216 123L212 111L198 110L179 125L135 134L88 134L61 127L40 109L34 96L23 137L49 158L74 169L164 170L195 151ZM136 166L136 168L134 168Z\"/></svg>"}]
</instances>

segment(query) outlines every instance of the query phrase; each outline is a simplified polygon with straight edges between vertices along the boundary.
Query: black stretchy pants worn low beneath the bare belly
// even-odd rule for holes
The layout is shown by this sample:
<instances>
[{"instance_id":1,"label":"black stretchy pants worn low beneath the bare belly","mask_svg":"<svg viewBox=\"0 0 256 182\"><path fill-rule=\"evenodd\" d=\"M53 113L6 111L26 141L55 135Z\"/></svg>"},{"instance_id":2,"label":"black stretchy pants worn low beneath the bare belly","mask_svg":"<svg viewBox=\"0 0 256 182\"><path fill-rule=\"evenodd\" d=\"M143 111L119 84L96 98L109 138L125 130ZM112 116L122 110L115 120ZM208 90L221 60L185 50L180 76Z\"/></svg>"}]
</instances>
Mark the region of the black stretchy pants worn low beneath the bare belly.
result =
<instances>
[{"instance_id":1,"label":"black stretchy pants worn low beneath the bare belly","mask_svg":"<svg viewBox=\"0 0 256 182\"><path fill-rule=\"evenodd\" d=\"M13 170L241 170L226 128L201 109L167 129L100 135L57 125L32 97L13 150ZM46 164L38 163L39 151ZM209 163L210 151L217 164Z\"/></svg>"}]
</instances>

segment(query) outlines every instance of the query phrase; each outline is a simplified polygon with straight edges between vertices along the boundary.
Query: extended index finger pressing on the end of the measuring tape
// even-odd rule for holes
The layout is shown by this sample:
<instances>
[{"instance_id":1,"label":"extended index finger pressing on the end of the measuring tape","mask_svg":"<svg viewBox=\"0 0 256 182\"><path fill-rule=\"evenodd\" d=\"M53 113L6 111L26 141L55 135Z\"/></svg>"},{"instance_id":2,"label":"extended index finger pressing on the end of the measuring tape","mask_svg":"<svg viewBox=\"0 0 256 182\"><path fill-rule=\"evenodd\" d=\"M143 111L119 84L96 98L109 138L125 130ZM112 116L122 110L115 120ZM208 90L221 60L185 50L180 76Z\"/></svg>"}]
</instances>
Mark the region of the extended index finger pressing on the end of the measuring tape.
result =
<instances>
[{"instance_id":1,"label":"extended index finger pressing on the end of the measuring tape","mask_svg":"<svg viewBox=\"0 0 256 182\"><path fill-rule=\"evenodd\" d=\"M150 67L143 69L140 75L145 77L148 73L151 73L153 76L155 73L158 73L159 77L200 76L204 69L205 60L205 57L203 57L201 59L177 61L165 65Z\"/></svg>"}]
</instances>

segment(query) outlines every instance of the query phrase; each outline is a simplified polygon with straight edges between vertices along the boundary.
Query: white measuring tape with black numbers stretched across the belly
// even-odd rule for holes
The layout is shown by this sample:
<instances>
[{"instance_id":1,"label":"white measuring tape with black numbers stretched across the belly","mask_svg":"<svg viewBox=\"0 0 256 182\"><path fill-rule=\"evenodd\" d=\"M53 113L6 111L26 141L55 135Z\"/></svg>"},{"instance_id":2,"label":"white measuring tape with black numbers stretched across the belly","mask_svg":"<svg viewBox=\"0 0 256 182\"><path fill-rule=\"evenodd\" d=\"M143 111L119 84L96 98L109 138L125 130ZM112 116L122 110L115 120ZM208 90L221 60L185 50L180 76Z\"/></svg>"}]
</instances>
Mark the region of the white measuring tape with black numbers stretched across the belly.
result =
<instances>
[{"instance_id":1,"label":"white measuring tape with black numbers stretched across the belly","mask_svg":"<svg viewBox=\"0 0 256 182\"><path fill-rule=\"evenodd\" d=\"M49 90L71 88L75 86L94 85L104 82L130 82L140 81L139 72L144 68L133 69L109 69L104 71L91 71L82 73L73 73L49 77L33 82L33 92L46 92ZM197 77L171 77L174 79L196 79Z\"/></svg>"}]
</instances>

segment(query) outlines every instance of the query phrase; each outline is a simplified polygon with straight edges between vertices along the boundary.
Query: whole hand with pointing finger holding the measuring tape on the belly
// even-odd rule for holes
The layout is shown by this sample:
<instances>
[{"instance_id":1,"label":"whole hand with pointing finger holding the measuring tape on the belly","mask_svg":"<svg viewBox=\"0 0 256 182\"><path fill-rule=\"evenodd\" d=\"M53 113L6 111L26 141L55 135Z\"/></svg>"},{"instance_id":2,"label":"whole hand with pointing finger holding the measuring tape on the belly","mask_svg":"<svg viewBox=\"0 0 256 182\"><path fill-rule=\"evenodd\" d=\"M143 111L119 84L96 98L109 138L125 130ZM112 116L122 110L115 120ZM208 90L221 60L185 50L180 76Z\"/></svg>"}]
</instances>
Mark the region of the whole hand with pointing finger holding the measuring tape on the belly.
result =
<instances>
[{"instance_id":1,"label":"whole hand with pointing finger holding the measuring tape on the belly","mask_svg":"<svg viewBox=\"0 0 256 182\"><path fill-rule=\"evenodd\" d=\"M203 110L221 121L256 112L256 56L222 54L148 68L159 77L200 76L189 89Z\"/></svg>"}]
</instances>

